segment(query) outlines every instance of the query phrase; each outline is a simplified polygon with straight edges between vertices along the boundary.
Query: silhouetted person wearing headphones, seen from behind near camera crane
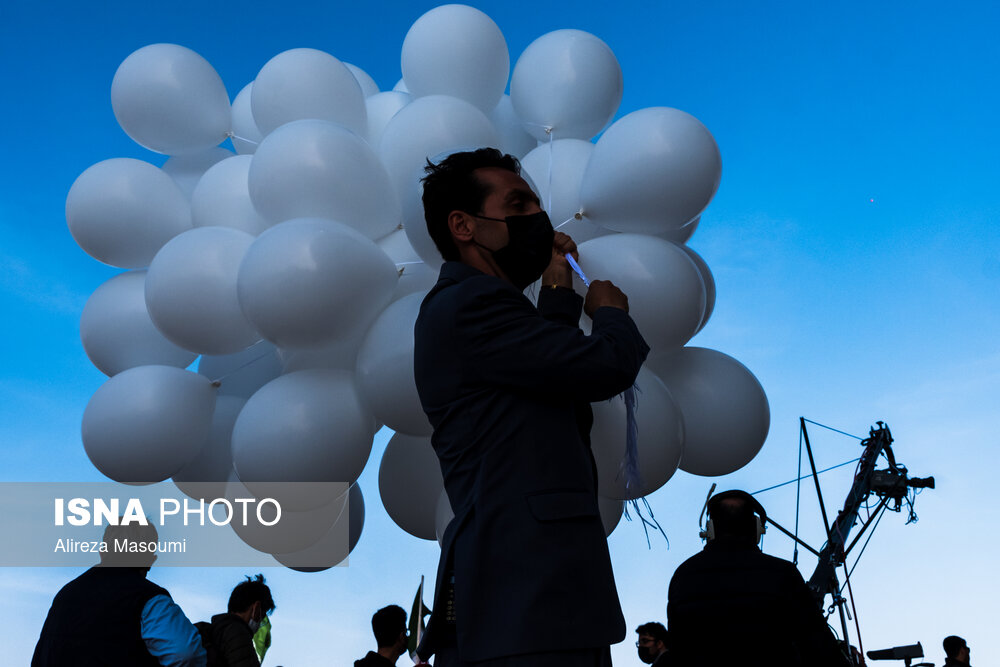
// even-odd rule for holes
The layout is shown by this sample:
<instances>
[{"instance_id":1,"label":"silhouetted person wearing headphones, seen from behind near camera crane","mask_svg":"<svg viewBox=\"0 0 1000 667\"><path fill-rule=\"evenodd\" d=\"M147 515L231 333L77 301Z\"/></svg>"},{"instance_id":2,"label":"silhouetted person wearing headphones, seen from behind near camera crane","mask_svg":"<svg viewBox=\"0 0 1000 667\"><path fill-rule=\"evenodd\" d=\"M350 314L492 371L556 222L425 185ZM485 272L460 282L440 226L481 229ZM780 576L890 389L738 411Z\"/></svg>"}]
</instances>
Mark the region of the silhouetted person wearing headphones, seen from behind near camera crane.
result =
<instances>
[{"instance_id":1,"label":"silhouetted person wearing headphones, seen from behind near camera crane","mask_svg":"<svg viewBox=\"0 0 1000 667\"><path fill-rule=\"evenodd\" d=\"M798 569L757 548L767 514L744 491L708 503L708 543L670 581L670 664L841 667L837 646Z\"/></svg>"}]
</instances>

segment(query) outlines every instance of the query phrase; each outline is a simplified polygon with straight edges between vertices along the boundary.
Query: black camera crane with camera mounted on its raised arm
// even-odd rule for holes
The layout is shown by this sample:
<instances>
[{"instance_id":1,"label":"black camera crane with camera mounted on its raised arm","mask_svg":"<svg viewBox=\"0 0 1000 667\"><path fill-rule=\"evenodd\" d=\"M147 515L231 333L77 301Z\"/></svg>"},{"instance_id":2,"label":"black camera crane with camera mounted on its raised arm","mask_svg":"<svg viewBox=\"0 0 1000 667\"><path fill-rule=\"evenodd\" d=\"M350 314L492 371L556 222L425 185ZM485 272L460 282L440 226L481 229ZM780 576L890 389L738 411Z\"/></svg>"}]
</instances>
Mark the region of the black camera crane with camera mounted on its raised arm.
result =
<instances>
[{"instance_id":1,"label":"black camera crane with camera mounted on its raised arm","mask_svg":"<svg viewBox=\"0 0 1000 667\"><path fill-rule=\"evenodd\" d=\"M790 533L768 517L768 523L795 540L796 543L805 547L818 557L816 569L809 577L809 589L813 593L816 604L821 610L825 609L826 596L831 596L831 605L827 609L833 613L836 608L840 614L840 622L843 627L843 637L847 639L847 614L845 604L847 600L841 594L840 581L837 578L837 568L847 561L847 556L857 545L862 535L872 526L872 523L881 515L883 509L899 512L903 501L909 506L910 516L907 523L916 521L916 514L913 513L913 499L910 495L911 489L934 488L934 478L910 477L906 466L896 463L896 457L892 451L892 433L889 427L883 422L876 422L877 426L869 430L868 437L861 441L864 452L858 461L857 472L854 475L854 483L844 501L844 507L837 514L837 518L831 524L826 514L826 505L823 503L823 491L819 484L819 474L816 471L816 462L813 458L812 445L809 443L809 432L806 429L806 419L799 418L803 441L809 455L809 466L812 471L813 482L816 485L816 495L819 499L820 511L823 515L823 526L826 528L826 544L817 551ZM887 467L883 470L876 470L880 456L885 456ZM914 492L915 493L915 492ZM879 499L878 505L873 512L868 514L867 519L861 525L854 539L848 544L847 540L855 524L857 524L861 509L866 507L870 496ZM892 503L890 507L889 504ZM862 551L864 548L862 547ZM848 585L850 584L850 572L846 573Z\"/></svg>"}]
</instances>

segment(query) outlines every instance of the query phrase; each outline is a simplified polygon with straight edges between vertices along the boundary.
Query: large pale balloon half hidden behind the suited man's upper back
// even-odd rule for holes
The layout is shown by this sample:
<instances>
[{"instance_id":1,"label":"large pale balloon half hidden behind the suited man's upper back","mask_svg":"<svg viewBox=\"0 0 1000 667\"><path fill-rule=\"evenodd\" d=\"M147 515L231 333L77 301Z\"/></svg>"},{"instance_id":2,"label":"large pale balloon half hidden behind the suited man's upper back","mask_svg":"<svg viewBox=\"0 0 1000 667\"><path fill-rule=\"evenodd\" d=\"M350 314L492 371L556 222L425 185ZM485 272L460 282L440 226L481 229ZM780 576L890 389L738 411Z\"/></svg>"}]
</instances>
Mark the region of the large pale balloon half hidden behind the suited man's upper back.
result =
<instances>
[{"instance_id":1,"label":"large pale balloon half hidden behind the suited man's upper back","mask_svg":"<svg viewBox=\"0 0 1000 667\"><path fill-rule=\"evenodd\" d=\"M358 351L356 381L361 402L375 419L400 433L430 436L413 379L413 325L425 294L404 296L378 316Z\"/></svg>"}]
</instances>

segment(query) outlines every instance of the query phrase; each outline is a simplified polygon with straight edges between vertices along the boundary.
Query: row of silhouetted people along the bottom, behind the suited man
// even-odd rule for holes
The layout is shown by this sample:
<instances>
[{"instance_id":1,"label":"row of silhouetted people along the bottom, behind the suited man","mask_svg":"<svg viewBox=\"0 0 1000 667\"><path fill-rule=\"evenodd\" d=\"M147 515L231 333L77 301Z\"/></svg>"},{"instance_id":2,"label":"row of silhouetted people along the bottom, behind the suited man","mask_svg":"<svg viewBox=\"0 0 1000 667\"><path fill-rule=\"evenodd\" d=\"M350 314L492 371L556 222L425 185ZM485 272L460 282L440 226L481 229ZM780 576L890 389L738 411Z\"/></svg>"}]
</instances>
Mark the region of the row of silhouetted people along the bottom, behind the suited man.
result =
<instances>
[{"instance_id":1,"label":"row of silhouetted people along the bottom, behind the suited man","mask_svg":"<svg viewBox=\"0 0 1000 667\"><path fill-rule=\"evenodd\" d=\"M849 659L851 647L834 638L798 569L758 548L767 515L750 494L716 494L707 509L705 548L682 563L670 581L670 630L655 621L635 629L639 660L654 667L863 664L857 654ZM105 539L148 541L155 539L151 531L155 528L109 526ZM135 560L113 553L102 553L99 565L56 595L32 667L260 667L275 609L263 575L237 584L225 613L191 623L170 593L146 578L155 555ZM375 650L354 667L393 667L406 653L417 664L428 664L431 656L420 642L424 614L412 616L408 628L401 607L376 611ZM964 639L949 636L943 646L944 667L969 667ZM476 662L446 654L435 662L438 667L501 667L508 664L504 660Z\"/></svg>"}]
</instances>

